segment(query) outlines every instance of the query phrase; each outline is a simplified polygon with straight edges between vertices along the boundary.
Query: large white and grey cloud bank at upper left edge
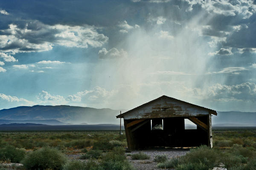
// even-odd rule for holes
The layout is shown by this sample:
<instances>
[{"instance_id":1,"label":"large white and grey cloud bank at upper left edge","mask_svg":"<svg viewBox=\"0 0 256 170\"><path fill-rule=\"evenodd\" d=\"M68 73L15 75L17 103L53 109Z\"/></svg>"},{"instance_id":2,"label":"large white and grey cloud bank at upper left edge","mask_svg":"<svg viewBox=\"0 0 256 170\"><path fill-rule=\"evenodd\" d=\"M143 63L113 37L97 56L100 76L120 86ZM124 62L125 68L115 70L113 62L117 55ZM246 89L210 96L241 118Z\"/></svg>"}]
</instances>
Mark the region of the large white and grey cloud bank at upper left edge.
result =
<instances>
[{"instance_id":1,"label":"large white and grey cloud bank at upper left edge","mask_svg":"<svg viewBox=\"0 0 256 170\"><path fill-rule=\"evenodd\" d=\"M39 21L30 21L24 27L10 24L0 30L0 50L4 52L49 51L53 45L88 48L101 47L108 37L99 34L94 26L49 26Z\"/></svg>"}]
</instances>

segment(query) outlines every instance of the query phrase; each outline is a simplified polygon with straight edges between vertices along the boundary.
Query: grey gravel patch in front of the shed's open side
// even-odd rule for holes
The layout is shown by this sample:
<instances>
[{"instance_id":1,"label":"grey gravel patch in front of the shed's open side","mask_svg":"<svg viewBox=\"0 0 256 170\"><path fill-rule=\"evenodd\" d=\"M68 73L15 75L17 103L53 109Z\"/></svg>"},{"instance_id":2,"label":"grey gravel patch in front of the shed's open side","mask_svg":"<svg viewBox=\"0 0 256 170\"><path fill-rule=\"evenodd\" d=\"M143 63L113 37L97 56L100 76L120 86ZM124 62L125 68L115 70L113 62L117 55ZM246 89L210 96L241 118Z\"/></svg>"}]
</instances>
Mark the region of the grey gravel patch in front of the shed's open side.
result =
<instances>
[{"instance_id":1,"label":"grey gravel patch in front of the shed's open side","mask_svg":"<svg viewBox=\"0 0 256 170\"><path fill-rule=\"evenodd\" d=\"M142 151L132 151L131 153L126 154L134 154L143 152L150 156L150 159L146 160L132 160L131 156L128 156L129 161L134 165L136 170L159 170L157 168L157 162L154 162L154 158L157 155L166 155L168 159L172 159L175 157L186 155L188 149L154 149L154 150L142 150Z\"/></svg>"}]
</instances>

